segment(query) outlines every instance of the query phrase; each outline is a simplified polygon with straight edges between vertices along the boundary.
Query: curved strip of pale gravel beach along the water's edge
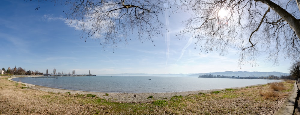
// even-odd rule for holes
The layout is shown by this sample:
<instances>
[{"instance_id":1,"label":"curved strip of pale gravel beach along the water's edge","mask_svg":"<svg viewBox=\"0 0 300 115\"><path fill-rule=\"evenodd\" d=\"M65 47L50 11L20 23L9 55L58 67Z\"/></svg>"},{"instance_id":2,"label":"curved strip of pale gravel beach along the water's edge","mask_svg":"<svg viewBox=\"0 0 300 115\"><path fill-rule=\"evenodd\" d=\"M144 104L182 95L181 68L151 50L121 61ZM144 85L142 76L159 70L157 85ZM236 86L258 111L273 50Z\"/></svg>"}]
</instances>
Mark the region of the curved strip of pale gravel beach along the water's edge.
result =
<instances>
[{"instance_id":1,"label":"curved strip of pale gravel beach along the water's edge","mask_svg":"<svg viewBox=\"0 0 300 115\"><path fill-rule=\"evenodd\" d=\"M11 77L15 78L15 77ZM10 81L11 78L8 78ZM16 81L15 81L16 82ZM64 90L64 89L56 89L56 88L51 88L51 87L44 87L44 86L38 86L38 85L33 85L33 84L27 84L27 83L22 83L25 84L26 87L30 87L32 89L36 90L41 90L45 92L53 92L53 93L71 93L71 94L94 94L100 98L110 100L113 102L129 102L129 103L147 103L147 102L153 102L156 99L160 100L167 100L170 99L171 97L177 95L177 96L187 96L190 94L198 94L198 93L209 93L211 91L221 91L225 89L214 89L214 90L198 90L198 91L187 91L187 92L172 92L172 93L107 93L108 96L105 96L106 93L101 93L101 92L88 92L88 91L76 91L76 90ZM259 84L262 85L262 84ZM259 86L259 85L254 85L254 86ZM248 86L250 87L250 86ZM234 87L232 89L239 89L239 88L244 88L244 87ZM134 97L136 95L136 97ZM153 96L153 98L148 99L149 96Z\"/></svg>"}]
</instances>

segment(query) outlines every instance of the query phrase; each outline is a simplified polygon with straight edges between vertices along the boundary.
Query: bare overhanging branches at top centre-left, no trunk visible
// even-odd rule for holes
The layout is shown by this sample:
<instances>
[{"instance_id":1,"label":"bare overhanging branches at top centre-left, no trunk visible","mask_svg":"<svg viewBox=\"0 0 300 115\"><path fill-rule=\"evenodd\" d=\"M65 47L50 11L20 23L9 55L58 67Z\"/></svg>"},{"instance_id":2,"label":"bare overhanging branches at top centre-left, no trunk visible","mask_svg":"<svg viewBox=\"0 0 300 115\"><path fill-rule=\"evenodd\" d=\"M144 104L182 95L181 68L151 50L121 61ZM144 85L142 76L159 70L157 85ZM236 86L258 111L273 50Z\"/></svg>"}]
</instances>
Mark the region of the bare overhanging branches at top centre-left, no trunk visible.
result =
<instances>
[{"instance_id":1,"label":"bare overhanging branches at top centre-left, no trunk visible","mask_svg":"<svg viewBox=\"0 0 300 115\"><path fill-rule=\"evenodd\" d=\"M70 25L82 30L81 39L97 38L103 48L138 39L153 42L163 35L158 19L162 1L152 0L70 0Z\"/></svg>"}]
</instances>

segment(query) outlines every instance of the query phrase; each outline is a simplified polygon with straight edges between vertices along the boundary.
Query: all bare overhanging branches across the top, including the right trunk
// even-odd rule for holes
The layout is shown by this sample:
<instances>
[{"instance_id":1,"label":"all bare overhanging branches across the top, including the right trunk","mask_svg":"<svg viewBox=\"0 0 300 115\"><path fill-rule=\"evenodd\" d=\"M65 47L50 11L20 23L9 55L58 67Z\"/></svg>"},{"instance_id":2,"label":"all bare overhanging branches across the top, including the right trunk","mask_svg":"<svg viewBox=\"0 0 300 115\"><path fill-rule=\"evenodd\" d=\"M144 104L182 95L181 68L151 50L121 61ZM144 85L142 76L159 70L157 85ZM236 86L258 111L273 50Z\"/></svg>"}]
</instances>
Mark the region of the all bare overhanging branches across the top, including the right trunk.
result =
<instances>
[{"instance_id":1,"label":"all bare overhanging branches across the top, including the right trunk","mask_svg":"<svg viewBox=\"0 0 300 115\"><path fill-rule=\"evenodd\" d=\"M82 31L81 39L99 39L103 48L128 44L131 38L153 43L163 35L160 16L164 12L189 12L192 15L184 21L185 28L176 35L194 40L201 53L226 55L236 50L239 64L253 66L265 54L274 63L280 55L300 58L299 0L52 1L70 7L65 12L67 19L70 26Z\"/></svg>"}]
</instances>

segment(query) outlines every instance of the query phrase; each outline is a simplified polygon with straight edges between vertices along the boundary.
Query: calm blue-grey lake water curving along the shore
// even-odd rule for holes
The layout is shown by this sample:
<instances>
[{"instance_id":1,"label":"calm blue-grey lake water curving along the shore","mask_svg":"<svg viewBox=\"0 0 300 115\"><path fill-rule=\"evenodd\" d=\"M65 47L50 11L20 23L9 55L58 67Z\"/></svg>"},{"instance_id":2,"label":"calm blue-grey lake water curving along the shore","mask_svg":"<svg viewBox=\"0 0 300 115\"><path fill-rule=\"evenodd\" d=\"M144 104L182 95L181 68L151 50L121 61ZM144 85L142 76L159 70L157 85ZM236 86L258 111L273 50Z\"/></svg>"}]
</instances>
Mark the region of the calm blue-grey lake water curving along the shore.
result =
<instances>
[{"instance_id":1,"label":"calm blue-grey lake water curving along the shore","mask_svg":"<svg viewBox=\"0 0 300 115\"><path fill-rule=\"evenodd\" d=\"M267 84L275 80L192 78L192 77L145 77L145 76L64 76L56 78L13 78L20 81L59 89L108 92L108 93L158 93L211 90Z\"/></svg>"}]
</instances>

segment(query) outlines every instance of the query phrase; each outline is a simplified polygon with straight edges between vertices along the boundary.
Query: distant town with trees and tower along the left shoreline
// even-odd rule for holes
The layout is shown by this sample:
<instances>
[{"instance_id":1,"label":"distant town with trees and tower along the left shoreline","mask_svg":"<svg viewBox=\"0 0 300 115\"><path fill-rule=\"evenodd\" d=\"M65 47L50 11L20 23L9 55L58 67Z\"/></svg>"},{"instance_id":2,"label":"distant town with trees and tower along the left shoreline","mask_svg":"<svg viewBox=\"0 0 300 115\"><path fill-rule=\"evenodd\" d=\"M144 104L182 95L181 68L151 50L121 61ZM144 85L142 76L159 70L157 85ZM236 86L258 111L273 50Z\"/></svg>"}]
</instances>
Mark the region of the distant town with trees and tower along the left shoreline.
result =
<instances>
[{"instance_id":1,"label":"distant town with trees and tower along the left shoreline","mask_svg":"<svg viewBox=\"0 0 300 115\"><path fill-rule=\"evenodd\" d=\"M43 72L39 72L38 70L32 71L32 70L28 70L26 71L25 69L23 69L22 67L18 67L16 68L16 66L14 68L10 68L8 67L7 69L5 69L4 67L0 70L0 75L44 75L44 76L96 76L96 75L92 75L91 71L88 71L88 74L75 74L75 70L72 71L72 73L68 72L68 73L64 73L63 71L60 73L56 73L56 69L53 69L53 73L48 73L48 69L46 69L46 73Z\"/></svg>"}]
</instances>

